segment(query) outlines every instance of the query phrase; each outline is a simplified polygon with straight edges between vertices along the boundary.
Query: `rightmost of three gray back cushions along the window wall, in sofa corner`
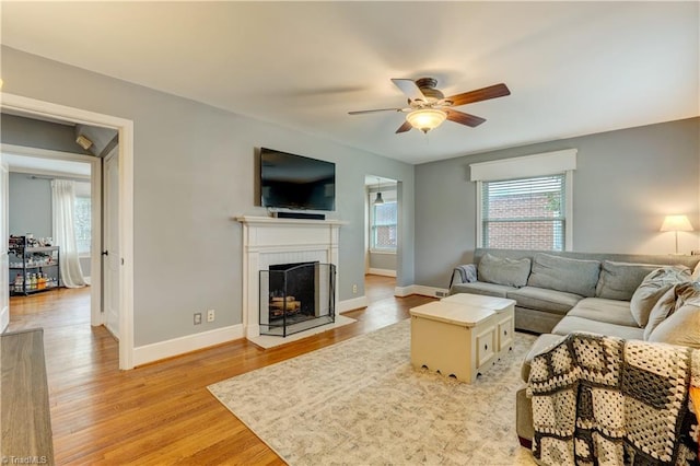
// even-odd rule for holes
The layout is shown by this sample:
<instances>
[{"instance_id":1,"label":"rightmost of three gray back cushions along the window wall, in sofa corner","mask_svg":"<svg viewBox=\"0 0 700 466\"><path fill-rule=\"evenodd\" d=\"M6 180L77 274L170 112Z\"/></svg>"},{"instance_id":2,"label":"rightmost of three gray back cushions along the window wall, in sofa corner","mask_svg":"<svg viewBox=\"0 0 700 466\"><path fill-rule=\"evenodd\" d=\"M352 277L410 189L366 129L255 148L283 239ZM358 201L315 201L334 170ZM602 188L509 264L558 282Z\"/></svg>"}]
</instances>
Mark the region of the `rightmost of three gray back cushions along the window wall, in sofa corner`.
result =
<instances>
[{"instance_id":1,"label":"rightmost of three gray back cushions along the window wall, in sofa corner","mask_svg":"<svg viewBox=\"0 0 700 466\"><path fill-rule=\"evenodd\" d=\"M604 260L596 298L629 301L644 277L657 269L653 264L628 264Z\"/></svg>"}]
</instances>

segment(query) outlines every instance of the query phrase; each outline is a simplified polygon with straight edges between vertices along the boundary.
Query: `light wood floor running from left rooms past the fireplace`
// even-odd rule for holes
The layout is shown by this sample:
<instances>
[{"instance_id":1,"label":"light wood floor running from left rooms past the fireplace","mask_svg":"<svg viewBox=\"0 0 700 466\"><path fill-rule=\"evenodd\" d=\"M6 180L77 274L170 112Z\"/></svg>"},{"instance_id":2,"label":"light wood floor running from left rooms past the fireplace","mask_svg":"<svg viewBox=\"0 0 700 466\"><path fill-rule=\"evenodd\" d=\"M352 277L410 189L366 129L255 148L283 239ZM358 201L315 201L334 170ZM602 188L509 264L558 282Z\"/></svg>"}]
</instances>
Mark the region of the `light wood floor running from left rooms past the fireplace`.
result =
<instances>
[{"instance_id":1,"label":"light wood floor running from left rooms past the fireplace","mask_svg":"<svg viewBox=\"0 0 700 466\"><path fill-rule=\"evenodd\" d=\"M10 330L44 327L57 464L283 464L207 386L408 317L432 299L393 296L395 280L368 276L358 322L278 348L245 339L118 370L117 342L90 326L88 290L12 298Z\"/></svg>"}]
</instances>

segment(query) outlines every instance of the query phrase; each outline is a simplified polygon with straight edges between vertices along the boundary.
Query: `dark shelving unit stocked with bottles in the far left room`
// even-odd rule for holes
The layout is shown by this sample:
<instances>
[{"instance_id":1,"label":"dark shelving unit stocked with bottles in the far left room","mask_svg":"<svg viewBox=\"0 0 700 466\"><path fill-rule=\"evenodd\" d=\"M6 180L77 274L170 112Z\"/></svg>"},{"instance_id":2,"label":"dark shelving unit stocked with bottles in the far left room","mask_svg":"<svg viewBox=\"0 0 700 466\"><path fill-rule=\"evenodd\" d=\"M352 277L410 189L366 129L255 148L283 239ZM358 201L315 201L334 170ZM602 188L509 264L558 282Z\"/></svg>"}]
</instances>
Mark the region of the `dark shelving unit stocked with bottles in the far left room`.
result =
<instances>
[{"instance_id":1,"label":"dark shelving unit stocked with bottles in the far left room","mask_svg":"<svg viewBox=\"0 0 700 466\"><path fill-rule=\"evenodd\" d=\"M10 295L28 295L60 287L58 246L37 246L26 236L10 237Z\"/></svg>"}]
</instances>

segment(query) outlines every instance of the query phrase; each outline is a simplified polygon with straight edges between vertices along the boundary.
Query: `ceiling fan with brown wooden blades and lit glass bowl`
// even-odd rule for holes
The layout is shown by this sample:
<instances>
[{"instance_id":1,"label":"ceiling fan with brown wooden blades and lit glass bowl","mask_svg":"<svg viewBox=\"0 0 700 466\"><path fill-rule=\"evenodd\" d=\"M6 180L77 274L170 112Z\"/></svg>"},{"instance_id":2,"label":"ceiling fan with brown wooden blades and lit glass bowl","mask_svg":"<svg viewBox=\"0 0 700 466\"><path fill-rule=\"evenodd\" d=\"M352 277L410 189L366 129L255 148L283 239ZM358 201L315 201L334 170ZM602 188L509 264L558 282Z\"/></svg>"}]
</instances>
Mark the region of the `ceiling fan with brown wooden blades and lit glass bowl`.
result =
<instances>
[{"instance_id":1,"label":"ceiling fan with brown wooden blades and lit glass bowl","mask_svg":"<svg viewBox=\"0 0 700 466\"><path fill-rule=\"evenodd\" d=\"M357 110L348 112L348 114L362 115L375 112L406 113L406 121L396 130L397 133L406 132L411 128L419 129L427 133L431 129L439 127L445 119L474 128L481 125L486 119L456 110L453 107L511 94L511 91L503 83L445 97L440 90L435 89L438 80L434 78L421 78L416 81L412 79L392 79L392 82L408 97L408 107Z\"/></svg>"}]
</instances>

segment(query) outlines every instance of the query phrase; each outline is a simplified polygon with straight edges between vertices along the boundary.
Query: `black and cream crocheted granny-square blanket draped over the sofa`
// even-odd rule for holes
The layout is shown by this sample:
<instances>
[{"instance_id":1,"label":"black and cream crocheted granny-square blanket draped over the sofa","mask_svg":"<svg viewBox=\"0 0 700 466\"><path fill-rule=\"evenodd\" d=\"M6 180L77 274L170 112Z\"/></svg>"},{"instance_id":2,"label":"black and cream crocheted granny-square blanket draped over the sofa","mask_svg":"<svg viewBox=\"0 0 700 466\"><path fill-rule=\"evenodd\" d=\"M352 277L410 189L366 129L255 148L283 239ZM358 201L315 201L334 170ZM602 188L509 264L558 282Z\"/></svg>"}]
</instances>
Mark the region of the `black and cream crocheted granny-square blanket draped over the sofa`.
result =
<instances>
[{"instance_id":1,"label":"black and cream crocheted granny-square blanket draped over the sofa","mask_svg":"<svg viewBox=\"0 0 700 466\"><path fill-rule=\"evenodd\" d=\"M533 455L544 465L698 462L689 398L700 350L571 334L533 359Z\"/></svg>"}]
</instances>

